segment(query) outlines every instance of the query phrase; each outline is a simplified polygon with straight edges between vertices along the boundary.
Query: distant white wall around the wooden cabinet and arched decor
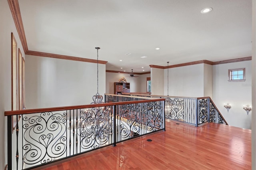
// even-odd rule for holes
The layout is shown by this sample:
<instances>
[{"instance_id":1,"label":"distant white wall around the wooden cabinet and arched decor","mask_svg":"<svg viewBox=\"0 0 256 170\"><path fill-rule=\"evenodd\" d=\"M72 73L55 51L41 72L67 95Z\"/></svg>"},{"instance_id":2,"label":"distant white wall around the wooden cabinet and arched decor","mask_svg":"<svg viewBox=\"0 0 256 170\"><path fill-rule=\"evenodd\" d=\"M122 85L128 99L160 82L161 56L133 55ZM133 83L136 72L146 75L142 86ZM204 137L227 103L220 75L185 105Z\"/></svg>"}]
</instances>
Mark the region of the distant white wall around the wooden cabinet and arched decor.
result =
<instances>
[{"instance_id":1,"label":"distant white wall around the wooden cabinet and arched decor","mask_svg":"<svg viewBox=\"0 0 256 170\"><path fill-rule=\"evenodd\" d=\"M141 75L135 76L139 77L130 77L130 74L106 72L106 93L114 94L114 82L118 82L118 80L122 77L124 77L126 81L130 83L130 93L140 92Z\"/></svg>"}]
</instances>

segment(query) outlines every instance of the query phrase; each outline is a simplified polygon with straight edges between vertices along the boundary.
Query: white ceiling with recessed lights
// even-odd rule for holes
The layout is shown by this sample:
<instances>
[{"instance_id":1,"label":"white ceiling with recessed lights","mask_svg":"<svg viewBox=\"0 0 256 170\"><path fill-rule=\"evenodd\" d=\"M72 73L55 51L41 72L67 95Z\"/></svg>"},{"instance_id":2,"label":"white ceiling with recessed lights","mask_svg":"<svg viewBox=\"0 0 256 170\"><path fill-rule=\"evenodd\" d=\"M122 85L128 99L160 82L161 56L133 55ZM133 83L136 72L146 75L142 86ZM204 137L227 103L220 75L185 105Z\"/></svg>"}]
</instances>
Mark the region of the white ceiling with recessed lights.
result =
<instances>
[{"instance_id":1,"label":"white ceiling with recessed lights","mask_svg":"<svg viewBox=\"0 0 256 170\"><path fill-rule=\"evenodd\" d=\"M167 61L252 55L252 0L19 0L19 5L29 50L97 59L100 47L107 70L142 73L141 67L146 72ZM201 14L206 7L212 12Z\"/></svg>"}]
</instances>

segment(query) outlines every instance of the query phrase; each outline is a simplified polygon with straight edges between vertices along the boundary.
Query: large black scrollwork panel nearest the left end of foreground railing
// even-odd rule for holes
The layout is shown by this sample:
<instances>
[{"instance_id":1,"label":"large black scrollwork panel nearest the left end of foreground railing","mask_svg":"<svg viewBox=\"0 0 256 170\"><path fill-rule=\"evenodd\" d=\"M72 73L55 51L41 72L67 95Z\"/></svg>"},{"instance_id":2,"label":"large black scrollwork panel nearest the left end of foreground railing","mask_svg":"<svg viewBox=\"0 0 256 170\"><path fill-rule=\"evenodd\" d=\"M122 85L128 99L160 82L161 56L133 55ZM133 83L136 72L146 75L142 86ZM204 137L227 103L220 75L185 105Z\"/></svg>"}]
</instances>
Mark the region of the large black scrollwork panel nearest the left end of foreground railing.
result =
<instances>
[{"instance_id":1,"label":"large black scrollwork panel nearest the left end of foreground railing","mask_svg":"<svg viewBox=\"0 0 256 170\"><path fill-rule=\"evenodd\" d=\"M43 164L66 153L65 116L66 113L48 112L40 116L23 117L25 164Z\"/></svg>"}]
</instances>

